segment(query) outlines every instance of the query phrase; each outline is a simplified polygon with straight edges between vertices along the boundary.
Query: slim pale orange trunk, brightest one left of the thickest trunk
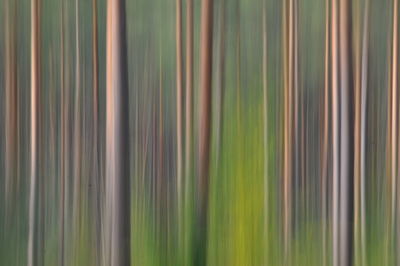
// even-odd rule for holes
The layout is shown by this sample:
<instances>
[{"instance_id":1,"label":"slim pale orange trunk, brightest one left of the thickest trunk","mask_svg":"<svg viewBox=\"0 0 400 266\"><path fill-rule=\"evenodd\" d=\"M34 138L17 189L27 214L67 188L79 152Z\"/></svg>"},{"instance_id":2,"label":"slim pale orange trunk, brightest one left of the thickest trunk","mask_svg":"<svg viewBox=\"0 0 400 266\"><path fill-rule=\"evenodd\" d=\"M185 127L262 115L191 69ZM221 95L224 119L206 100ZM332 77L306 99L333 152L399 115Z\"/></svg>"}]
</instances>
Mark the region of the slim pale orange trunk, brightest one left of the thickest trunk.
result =
<instances>
[{"instance_id":1,"label":"slim pale orange trunk, brightest one left of the thickest trunk","mask_svg":"<svg viewBox=\"0 0 400 266\"><path fill-rule=\"evenodd\" d=\"M29 189L28 266L37 265L37 183L40 112L40 0L31 1L31 176Z\"/></svg>"}]
</instances>

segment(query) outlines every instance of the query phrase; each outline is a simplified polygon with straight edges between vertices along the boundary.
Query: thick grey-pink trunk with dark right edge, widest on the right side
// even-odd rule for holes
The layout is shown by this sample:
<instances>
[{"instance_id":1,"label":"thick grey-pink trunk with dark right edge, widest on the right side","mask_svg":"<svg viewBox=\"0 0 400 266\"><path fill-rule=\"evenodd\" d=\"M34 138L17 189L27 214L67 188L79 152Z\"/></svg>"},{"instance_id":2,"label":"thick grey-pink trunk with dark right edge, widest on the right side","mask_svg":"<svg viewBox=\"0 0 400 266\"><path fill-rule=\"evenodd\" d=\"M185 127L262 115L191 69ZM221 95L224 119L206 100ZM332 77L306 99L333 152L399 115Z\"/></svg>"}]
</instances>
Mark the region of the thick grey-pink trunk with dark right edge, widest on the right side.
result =
<instances>
[{"instance_id":1,"label":"thick grey-pink trunk with dark right edge, widest on the right side","mask_svg":"<svg viewBox=\"0 0 400 266\"><path fill-rule=\"evenodd\" d=\"M351 1L340 0L340 265L353 263L354 91Z\"/></svg>"}]
</instances>

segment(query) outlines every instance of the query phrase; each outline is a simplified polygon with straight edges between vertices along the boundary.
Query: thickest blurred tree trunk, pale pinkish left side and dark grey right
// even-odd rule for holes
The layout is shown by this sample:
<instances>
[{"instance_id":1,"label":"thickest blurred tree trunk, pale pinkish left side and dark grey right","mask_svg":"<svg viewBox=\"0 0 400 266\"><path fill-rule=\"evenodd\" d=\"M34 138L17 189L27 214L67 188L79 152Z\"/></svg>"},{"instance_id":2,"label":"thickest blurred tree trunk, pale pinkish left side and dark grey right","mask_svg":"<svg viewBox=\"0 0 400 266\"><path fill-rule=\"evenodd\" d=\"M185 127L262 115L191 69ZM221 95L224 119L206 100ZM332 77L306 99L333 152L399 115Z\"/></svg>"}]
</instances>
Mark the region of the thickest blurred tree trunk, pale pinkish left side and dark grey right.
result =
<instances>
[{"instance_id":1,"label":"thickest blurred tree trunk, pale pinkish left side and dark grey right","mask_svg":"<svg viewBox=\"0 0 400 266\"><path fill-rule=\"evenodd\" d=\"M129 88L125 1L107 2L107 131L111 266L130 265Z\"/></svg>"}]
</instances>

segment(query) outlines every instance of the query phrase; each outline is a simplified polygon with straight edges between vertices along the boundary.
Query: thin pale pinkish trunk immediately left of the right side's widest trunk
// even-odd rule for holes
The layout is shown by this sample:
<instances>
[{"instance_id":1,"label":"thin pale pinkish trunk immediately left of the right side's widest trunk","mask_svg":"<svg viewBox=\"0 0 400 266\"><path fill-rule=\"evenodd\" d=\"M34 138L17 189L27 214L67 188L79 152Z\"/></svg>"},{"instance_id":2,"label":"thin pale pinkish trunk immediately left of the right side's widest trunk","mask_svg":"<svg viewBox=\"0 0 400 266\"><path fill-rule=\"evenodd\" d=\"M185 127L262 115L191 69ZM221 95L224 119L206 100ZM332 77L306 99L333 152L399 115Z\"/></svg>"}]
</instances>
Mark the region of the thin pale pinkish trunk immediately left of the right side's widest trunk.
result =
<instances>
[{"instance_id":1,"label":"thin pale pinkish trunk immediately left of the right side's widest trunk","mask_svg":"<svg viewBox=\"0 0 400 266\"><path fill-rule=\"evenodd\" d=\"M339 33L338 0L331 0L331 36L332 36L332 249L333 266L339 266Z\"/></svg>"}]
</instances>

